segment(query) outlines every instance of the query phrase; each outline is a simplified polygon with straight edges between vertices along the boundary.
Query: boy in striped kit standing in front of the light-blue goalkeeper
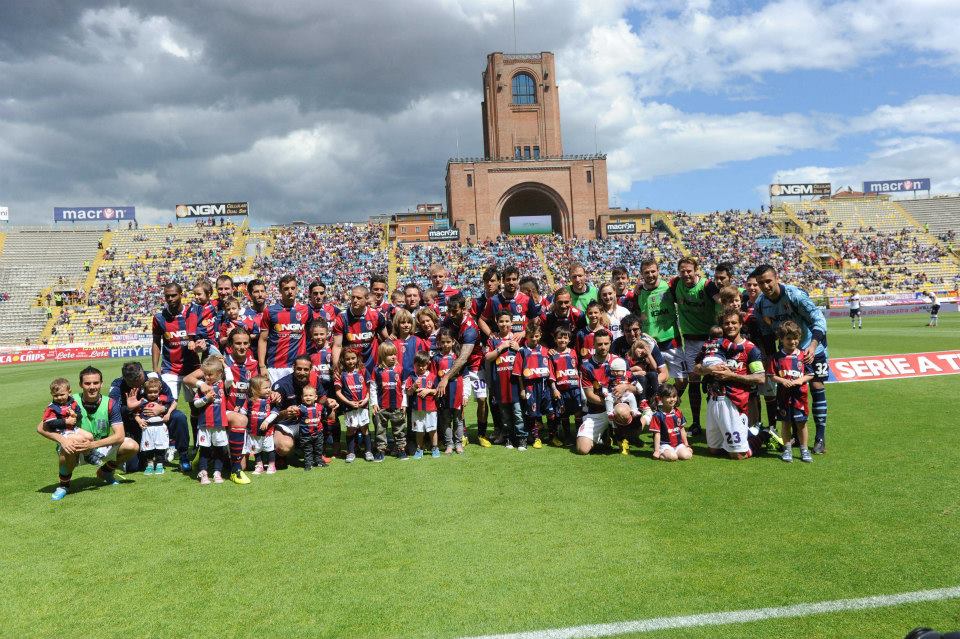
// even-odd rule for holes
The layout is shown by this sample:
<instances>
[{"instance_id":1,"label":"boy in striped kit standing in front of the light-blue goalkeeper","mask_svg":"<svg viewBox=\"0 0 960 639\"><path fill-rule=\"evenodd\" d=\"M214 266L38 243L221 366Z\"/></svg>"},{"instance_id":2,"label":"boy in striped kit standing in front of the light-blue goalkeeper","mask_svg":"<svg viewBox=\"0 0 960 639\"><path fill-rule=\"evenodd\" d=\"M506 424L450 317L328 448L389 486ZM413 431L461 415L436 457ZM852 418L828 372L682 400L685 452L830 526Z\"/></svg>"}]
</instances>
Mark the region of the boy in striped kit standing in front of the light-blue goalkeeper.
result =
<instances>
[{"instance_id":1,"label":"boy in striped kit standing in front of the light-blue goalkeeper","mask_svg":"<svg viewBox=\"0 0 960 639\"><path fill-rule=\"evenodd\" d=\"M783 438L785 462L793 461L792 437L800 444L800 461L813 462L807 448L807 383L813 379L813 369L803 359L800 350L800 326L787 320L777 329L780 351L773 359L773 381L777 383L777 412L780 418L780 436ZM791 434L792 433L792 434Z\"/></svg>"}]
</instances>

